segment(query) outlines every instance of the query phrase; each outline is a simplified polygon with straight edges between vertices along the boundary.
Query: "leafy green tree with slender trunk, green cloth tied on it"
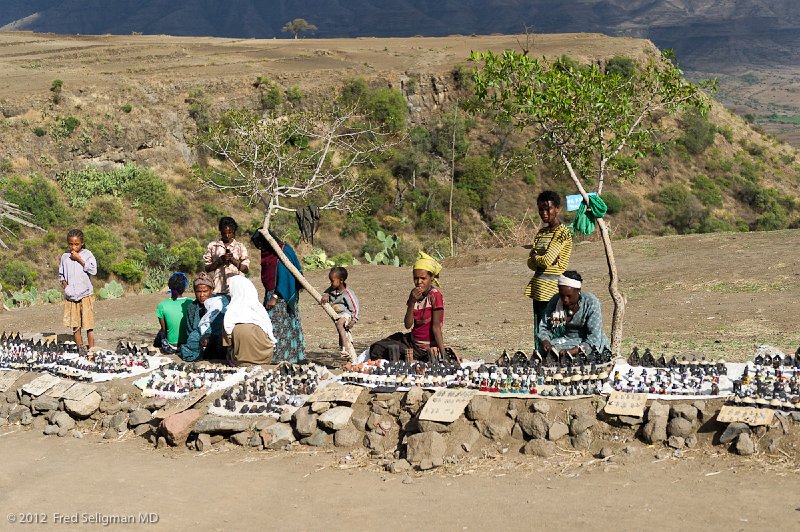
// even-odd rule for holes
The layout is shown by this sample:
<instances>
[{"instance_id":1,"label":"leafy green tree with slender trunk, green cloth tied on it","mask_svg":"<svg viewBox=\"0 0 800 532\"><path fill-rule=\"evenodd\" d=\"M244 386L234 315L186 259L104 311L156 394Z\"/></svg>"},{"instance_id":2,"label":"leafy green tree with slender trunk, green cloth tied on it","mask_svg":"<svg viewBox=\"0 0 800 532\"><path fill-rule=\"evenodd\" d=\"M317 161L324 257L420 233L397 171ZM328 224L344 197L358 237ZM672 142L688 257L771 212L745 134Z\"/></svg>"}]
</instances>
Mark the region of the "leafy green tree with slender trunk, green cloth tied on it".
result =
<instances>
[{"instance_id":1,"label":"leafy green tree with slender trunk, green cloth tied on it","mask_svg":"<svg viewBox=\"0 0 800 532\"><path fill-rule=\"evenodd\" d=\"M702 89L714 83L686 81L673 59L670 52L653 56L625 79L596 64L576 67L563 59L548 62L511 50L473 52L472 60L482 65L473 75L476 99L471 108L523 130L529 148L542 160L563 165L590 205L586 183L596 185L601 195L609 175L625 179L635 173L635 167L620 164L625 158L644 157L657 146L655 117L708 109ZM596 224L608 262L614 300L611 342L618 354L625 300L608 227L603 218Z\"/></svg>"}]
</instances>

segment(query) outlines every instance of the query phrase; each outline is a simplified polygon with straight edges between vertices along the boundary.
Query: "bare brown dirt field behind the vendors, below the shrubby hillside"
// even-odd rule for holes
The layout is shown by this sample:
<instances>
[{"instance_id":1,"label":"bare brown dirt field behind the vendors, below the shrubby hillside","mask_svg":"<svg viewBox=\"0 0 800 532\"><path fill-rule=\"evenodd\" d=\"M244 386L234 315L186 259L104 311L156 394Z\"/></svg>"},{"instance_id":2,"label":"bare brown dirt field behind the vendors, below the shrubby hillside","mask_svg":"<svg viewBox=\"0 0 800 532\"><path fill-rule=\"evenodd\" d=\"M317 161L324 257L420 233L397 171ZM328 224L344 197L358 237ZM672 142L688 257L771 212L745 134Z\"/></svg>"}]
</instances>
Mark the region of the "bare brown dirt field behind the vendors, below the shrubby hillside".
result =
<instances>
[{"instance_id":1,"label":"bare brown dirt field behind the vendors, below the shrubby hillside","mask_svg":"<svg viewBox=\"0 0 800 532\"><path fill-rule=\"evenodd\" d=\"M792 311L800 301L800 231L637 237L614 246L628 301L623 354L638 345L656 356L698 354L736 361L762 343L792 352L800 346ZM531 303L522 295L530 279L527 253L523 248L487 249L445 261L445 340L465 357L493 358L503 349L532 347ZM602 245L577 244L571 267L583 275L584 289L600 298L610 332ZM256 273L253 279L260 284ZM311 272L309 279L319 289L327 286L327 272ZM354 266L348 284L363 305L363 318L353 330L358 348L402 328L413 287L409 268ZM162 297L99 301L99 344L151 339ZM0 330L67 332L61 312L60 305L39 305L0 313ZM327 316L308 294L301 296L301 313L311 357L333 363L337 337Z\"/></svg>"}]
</instances>

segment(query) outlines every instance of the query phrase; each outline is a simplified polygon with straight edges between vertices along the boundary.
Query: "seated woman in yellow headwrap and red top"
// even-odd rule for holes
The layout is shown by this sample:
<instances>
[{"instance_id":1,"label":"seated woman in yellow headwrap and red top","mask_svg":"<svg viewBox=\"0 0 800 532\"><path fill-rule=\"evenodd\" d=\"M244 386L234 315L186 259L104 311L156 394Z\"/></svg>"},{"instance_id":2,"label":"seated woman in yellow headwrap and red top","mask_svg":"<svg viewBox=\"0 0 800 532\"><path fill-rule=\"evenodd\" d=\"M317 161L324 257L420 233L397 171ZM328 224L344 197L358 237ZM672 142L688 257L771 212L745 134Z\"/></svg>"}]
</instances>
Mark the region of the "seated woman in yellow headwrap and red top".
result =
<instances>
[{"instance_id":1,"label":"seated woman in yellow headwrap and red top","mask_svg":"<svg viewBox=\"0 0 800 532\"><path fill-rule=\"evenodd\" d=\"M406 301L403 324L410 333L397 332L370 346L370 358L387 360L436 360L445 356L442 338L444 296L439 289L442 265L433 257L419 252L414 263L414 289ZM413 357L408 357L406 353Z\"/></svg>"}]
</instances>

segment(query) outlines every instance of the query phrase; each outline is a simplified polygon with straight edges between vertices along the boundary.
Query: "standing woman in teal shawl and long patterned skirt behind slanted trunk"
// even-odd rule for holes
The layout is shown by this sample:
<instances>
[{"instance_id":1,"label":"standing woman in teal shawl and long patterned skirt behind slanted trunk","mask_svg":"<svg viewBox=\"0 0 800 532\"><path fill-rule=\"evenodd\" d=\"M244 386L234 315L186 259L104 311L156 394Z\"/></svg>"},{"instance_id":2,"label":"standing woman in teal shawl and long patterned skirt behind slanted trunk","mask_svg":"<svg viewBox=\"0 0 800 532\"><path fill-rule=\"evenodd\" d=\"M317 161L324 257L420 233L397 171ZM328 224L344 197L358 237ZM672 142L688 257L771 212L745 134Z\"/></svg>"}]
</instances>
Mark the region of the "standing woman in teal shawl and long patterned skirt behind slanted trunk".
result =
<instances>
[{"instance_id":1,"label":"standing woman in teal shawl and long patterned skirt behind slanted trunk","mask_svg":"<svg viewBox=\"0 0 800 532\"><path fill-rule=\"evenodd\" d=\"M299 271L302 270L292 246L272 235ZM303 326L300 323L298 296L300 283L278 258L278 254L260 231L250 238L253 245L261 250L261 282L264 285L264 308L267 309L275 333L275 352L272 362L300 362L306 358L303 341Z\"/></svg>"}]
</instances>

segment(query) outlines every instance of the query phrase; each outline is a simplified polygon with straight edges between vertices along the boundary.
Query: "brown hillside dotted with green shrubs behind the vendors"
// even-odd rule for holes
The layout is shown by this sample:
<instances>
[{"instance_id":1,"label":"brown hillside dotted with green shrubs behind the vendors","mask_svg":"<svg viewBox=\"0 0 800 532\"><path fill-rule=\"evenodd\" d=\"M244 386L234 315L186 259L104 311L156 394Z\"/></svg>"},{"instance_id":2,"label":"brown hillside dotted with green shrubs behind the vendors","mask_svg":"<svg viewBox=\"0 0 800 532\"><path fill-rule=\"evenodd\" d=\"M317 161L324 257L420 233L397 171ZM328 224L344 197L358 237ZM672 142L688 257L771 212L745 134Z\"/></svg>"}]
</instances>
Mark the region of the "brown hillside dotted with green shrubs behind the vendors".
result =
<instances>
[{"instance_id":1,"label":"brown hillside dotted with green shrubs behind the vendors","mask_svg":"<svg viewBox=\"0 0 800 532\"><path fill-rule=\"evenodd\" d=\"M365 112L376 120L399 117L404 135L362 170L370 183L365 210L323 214L316 246L349 264L383 249L377 231L384 230L400 237L404 263L418 249L449 254L451 131L458 138L452 205L459 250L529 243L537 194L571 194L574 187L560 167L499 172L490 154L523 139L455 109L471 94L470 50L515 46L514 36L273 41L2 33L0 197L31 211L47 232L23 229L6 239L0 283L4 290L58 286L57 260L73 226L86 230L102 280L159 290L170 268L194 271L220 216L233 214L247 229L263 221L258 208L199 190L193 169L205 157L192 146L198 129L231 108L311 107L344 85L364 96ZM595 64L654 52L647 41L597 34L540 35L533 50ZM708 118L679 116L663 125L664 140L675 141L669 149L642 160L635 179L612 179L604 188L615 239L800 227L795 149L718 104ZM279 216L274 228L299 239L291 216ZM309 244L299 251L314 256Z\"/></svg>"}]
</instances>

